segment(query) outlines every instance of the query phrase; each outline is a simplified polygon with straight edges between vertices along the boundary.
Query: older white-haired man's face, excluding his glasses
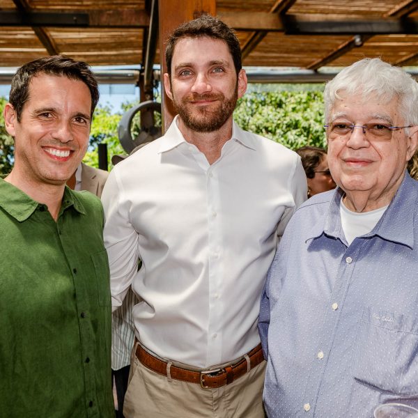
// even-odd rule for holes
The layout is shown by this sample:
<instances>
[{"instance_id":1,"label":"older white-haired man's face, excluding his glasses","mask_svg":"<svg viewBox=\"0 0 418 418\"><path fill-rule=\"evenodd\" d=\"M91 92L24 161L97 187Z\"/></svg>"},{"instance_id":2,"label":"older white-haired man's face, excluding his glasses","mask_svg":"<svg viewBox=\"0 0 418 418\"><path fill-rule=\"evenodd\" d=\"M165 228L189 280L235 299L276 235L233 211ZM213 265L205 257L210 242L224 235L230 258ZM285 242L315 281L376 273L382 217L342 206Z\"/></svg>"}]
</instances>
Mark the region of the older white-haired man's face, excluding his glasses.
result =
<instances>
[{"instance_id":1,"label":"older white-haired man's face, excluding his glasses","mask_svg":"<svg viewBox=\"0 0 418 418\"><path fill-rule=\"evenodd\" d=\"M329 123L405 125L397 111L397 98L384 103L373 97L365 100L361 93L340 96L330 111ZM410 128L410 137L401 129L394 130L392 138L386 140L368 140L359 127L349 135L336 137L328 130L328 164L335 183L346 192L349 209L373 210L392 201L417 147L415 128Z\"/></svg>"}]
</instances>

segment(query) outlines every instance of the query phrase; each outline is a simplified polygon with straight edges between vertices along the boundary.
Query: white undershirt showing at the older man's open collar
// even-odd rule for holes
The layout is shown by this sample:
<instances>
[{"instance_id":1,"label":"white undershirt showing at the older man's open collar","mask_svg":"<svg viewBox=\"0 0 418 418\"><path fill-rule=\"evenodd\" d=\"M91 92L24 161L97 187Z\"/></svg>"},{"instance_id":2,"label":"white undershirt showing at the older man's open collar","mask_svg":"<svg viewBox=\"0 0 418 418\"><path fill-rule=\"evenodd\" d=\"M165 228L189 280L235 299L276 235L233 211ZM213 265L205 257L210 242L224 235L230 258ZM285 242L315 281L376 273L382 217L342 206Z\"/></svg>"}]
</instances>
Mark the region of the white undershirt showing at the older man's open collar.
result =
<instances>
[{"instance_id":1,"label":"white undershirt showing at the older man's open collar","mask_svg":"<svg viewBox=\"0 0 418 418\"><path fill-rule=\"evenodd\" d=\"M348 245L350 245L355 238L369 233L379 222L379 219L385 213L386 209L387 206L383 206L382 208L371 210L370 212L352 212L346 208L343 199L341 198L341 227L344 235L346 235Z\"/></svg>"}]
</instances>

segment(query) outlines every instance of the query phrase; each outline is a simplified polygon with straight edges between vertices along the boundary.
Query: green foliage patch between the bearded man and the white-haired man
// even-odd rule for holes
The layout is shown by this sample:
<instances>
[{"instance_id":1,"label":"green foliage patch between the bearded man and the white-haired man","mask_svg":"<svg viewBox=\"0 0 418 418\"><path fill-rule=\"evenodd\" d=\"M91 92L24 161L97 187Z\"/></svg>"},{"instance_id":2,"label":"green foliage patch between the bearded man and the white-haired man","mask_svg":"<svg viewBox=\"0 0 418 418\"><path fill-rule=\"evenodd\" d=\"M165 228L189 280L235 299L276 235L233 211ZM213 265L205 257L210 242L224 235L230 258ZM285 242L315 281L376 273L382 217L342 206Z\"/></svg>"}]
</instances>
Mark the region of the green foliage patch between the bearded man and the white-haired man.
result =
<instances>
[{"instance_id":1,"label":"green foliage patch between the bearded man and the white-haired man","mask_svg":"<svg viewBox=\"0 0 418 418\"><path fill-rule=\"evenodd\" d=\"M325 147L321 91L250 92L239 100L234 119L243 129L293 150Z\"/></svg>"}]
</instances>

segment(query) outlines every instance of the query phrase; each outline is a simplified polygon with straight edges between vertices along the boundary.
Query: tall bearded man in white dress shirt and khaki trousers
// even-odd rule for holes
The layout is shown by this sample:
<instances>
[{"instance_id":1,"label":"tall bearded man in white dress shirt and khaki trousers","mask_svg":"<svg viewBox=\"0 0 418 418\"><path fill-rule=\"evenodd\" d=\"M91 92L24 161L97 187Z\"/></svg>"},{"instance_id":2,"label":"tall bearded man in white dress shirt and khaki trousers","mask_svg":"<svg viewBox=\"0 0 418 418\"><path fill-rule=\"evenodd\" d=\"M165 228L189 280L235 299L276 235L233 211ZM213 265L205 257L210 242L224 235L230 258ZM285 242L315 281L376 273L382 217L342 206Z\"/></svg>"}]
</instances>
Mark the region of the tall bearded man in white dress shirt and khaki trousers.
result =
<instances>
[{"instance_id":1,"label":"tall bearded man in white dress shirt and khaki trousers","mask_svg":"<svg viewBox=\"0 0 418 418\"><path fill-rule=\"evenodd\" d=\"M178 116L102 194L112 304L130 286L141 300L124 414L264 417L259 300L307 180L295 153L233 122L247 77L229 26L179 26L166 59Z\"/></svg>"}]
</instances>

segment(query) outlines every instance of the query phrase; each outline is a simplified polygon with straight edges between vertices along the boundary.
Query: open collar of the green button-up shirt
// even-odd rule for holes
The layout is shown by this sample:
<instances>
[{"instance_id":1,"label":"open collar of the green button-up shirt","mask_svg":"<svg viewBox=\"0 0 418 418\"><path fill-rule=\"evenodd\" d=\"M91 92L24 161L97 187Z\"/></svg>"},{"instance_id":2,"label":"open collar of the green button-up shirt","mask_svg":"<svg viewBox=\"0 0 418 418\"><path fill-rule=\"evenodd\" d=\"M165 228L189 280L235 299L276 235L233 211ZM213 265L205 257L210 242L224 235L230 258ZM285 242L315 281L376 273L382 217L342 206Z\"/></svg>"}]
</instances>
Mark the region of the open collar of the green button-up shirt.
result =
<instances>
[{"instance_id":1,"label":"open collar of the green button-up shirt","mask_svg":"<svg viewBox=\"0 0 418 418\"><path fill-rule=\"evenodd\" d=\"M0 208L6 210L17 222L26 221L40 204L31 199L22 190L0 178ZM61 212L70 208L70 206L73 206L77 212L85 215L86 211L77 194L65 186Z\"/></svg>"}]
</instances>

